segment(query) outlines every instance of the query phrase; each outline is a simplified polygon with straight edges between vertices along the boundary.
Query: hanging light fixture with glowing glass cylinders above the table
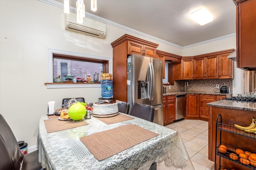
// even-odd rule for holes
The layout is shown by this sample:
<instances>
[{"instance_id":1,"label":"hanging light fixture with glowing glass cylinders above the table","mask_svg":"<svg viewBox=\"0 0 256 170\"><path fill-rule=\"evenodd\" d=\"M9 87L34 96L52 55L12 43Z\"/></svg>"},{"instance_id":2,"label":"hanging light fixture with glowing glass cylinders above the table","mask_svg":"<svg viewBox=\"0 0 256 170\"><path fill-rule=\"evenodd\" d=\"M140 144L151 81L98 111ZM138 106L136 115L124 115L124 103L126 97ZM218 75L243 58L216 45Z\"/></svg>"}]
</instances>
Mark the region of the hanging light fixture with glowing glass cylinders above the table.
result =
<instances>
[{"instance_id":1,"label":"hanging light fixture with glowing glass cylinders above the table","mask_svg":"<svg viewBox=\"0 0 256 170\"><path fill-rule=\"evenodd\" d=\"M91 0L91 10L97 10L97 0ZM64 0L64 13L69 14L69 0ZM83 18L85 17L85 5L84 0L76 1L76 18L78 23L83 23Z\"/></svg>"}]
</instances>

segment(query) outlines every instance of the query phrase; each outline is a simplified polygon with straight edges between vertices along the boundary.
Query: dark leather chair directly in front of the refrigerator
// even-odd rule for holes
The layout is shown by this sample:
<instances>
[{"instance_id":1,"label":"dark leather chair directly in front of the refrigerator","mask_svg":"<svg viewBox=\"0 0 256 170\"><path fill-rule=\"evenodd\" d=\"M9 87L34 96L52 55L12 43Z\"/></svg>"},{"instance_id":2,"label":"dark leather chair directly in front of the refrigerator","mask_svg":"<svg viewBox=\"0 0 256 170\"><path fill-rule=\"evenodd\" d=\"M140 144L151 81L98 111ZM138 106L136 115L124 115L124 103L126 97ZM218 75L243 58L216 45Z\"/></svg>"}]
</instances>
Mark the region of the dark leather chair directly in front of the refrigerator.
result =
<instances>
[{"instance_id":1,"label":"dark leather chair directly in front of the refrigerator","mask_svg":"<svg viewBox=\"0 0 256 170\"><path fill-rule=\"evenodd\" d=\"M134 102L132 104L130 115L153 122L154 106Z\"/></svg>"}]
</instances>

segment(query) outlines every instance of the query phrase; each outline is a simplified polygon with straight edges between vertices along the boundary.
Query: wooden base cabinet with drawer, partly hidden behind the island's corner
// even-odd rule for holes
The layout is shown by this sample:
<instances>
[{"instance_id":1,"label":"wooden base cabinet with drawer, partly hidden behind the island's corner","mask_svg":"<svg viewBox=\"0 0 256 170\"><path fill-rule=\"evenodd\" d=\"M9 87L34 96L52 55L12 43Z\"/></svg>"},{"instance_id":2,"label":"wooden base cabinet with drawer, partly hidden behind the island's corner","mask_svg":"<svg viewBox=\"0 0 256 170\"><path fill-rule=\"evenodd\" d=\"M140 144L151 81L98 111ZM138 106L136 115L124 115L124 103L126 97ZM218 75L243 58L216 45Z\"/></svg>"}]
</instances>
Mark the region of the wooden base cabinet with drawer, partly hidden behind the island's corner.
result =
<instances>
[{"instance_id":1,"label":"wooden base cabinet with drawer, partly hidden behind the island's corner","mask_svg":"<svg viewBox=\"0 0 256 170\"><path fill-rule=\"evenodd\" d=\"M206 106L206 104L210 102L215 102L216 101L216 95L205 95L205 94L200 94L200 117L205 118L205 121L208 121L209 119L209 113L210 113L210 107Z\"/></svg>"}]
</instances>

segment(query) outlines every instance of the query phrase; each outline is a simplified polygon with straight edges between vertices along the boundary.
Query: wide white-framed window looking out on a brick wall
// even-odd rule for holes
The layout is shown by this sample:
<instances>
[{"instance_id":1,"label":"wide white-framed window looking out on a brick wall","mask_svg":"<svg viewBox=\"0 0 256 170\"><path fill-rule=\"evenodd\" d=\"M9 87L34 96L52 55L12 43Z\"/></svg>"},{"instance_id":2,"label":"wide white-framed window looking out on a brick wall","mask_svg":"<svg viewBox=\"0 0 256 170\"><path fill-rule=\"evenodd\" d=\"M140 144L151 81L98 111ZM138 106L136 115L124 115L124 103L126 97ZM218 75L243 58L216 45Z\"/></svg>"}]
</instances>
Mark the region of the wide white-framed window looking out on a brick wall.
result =
<instances>
[{"instance_id":1,"label":"wide white-framed window looking out on a brick wall","mask_svg":"<svg viewBox=\"0 0 256 170\"><path fill-rule=\"evenodd\" d=\"M53 78L61 75L65 80L65 76L75 76L75 78L84 78L84 73L93 76L95 73L112 73L113 59L110 57L101 57L96 55L88 55L70 51L61 51L56 49L47 49L47 88L85 88L100 87L96 83L69 83L54 84Z\"/></svg>"}]
</instances>

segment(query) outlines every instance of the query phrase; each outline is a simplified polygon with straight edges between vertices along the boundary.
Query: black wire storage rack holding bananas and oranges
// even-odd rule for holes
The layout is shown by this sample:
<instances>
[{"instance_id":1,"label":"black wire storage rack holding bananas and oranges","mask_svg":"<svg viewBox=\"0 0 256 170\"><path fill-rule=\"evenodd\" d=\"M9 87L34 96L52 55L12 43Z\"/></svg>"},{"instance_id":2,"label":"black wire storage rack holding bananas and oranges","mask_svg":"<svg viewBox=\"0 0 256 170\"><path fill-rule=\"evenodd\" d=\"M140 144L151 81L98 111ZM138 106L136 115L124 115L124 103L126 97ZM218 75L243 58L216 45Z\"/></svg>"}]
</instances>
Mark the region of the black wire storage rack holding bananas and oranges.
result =
<instances>
[{"instance_id":1,"label":"black wire storage rack holding bananas and oranges","mask_svg":"<svg viewBox=\"0 0 256 170\"><path fill-rule=\"evenodd\" d=\"M219 120L219 118L220 118L220 120ZM236 154L236 149L238 149L238 147L228 145L227 143L221 142L221 137L222 137L221 133L222 133L222 131L256 139L256 132L253 133L254 131L250 131L252 133L247 133L247 132L244 131L243 128L238 129L237 127L235 127L235 124L240 125L242 127L249 126L249 124L222 119L222 116L220 114L217 115L217 118L216 118L216 138L215 138L215 148L216 148L216 150L215 150L215 166L216 166L216 156L219 156L219 162L220 162L221 158L225 158L227 160L230 160L232 162L236 162L237 164L240 164L240 165L245 166L247 168L250 168L252 170L256 170L255 164L253 164L254 166L252 166L252 164L250 163L250 160L248 160L246 158L242 158L242 157L240 157L239 155ZM220 131L220 144L218 146L217 146L217 130ZM255 143L256 143L256 141L255 141ZM227 150L220 149L221 145L225 145L227 147ZM239 148L239 149L242 149L242 148ZM245 150L245 149L242 149L242 150L250 152L250 150ZM218 170L222 170L222 169L227 169L228 170L228 168L226 168L224 166L221 166L220 164L219 164L219 167L220 168ZM216 167L215 167L215 169L216 169Z\"/></svg>"}]
</instances>

